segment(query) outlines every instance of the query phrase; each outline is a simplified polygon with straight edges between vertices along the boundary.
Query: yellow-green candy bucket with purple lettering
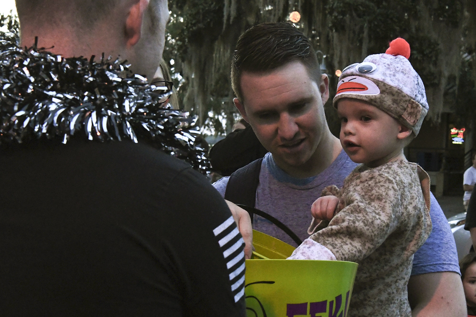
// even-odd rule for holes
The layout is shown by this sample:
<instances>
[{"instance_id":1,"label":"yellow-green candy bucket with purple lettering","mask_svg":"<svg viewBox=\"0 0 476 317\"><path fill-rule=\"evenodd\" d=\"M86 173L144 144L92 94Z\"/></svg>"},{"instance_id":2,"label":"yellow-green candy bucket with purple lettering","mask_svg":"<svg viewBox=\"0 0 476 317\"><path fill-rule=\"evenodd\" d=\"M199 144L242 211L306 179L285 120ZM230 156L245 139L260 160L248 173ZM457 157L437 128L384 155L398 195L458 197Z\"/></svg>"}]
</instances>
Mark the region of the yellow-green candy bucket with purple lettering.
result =
<instances>
[{"instance_id":1,"label":"yellow-green candy bucket with purple lettering","mask_svg":"<svg viewBox=\"0 0 476 317\"><path fill-rule=\"evenodd\" d=\"M246 260L248 317L346 317L357 263L286 260L295 249L253 230L256 251Z\"/></svg>"}]
</instances>

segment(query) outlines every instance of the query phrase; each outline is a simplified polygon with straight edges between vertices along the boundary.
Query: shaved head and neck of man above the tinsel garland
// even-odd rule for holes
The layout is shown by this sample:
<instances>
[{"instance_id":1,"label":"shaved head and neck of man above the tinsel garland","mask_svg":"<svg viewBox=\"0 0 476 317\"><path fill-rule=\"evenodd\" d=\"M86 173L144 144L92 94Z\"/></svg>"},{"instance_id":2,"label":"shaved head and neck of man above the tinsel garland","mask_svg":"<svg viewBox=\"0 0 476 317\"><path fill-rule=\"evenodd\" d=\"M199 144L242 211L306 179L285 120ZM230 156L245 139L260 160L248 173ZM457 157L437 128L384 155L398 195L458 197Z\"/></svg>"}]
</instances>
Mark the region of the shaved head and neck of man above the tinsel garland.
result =
<instances>
[{"instance_id":1,"label":"shaved head and neck of man above the tinsel garland","mask_svg":"<svg viewBox=\"0 0 476 317\"><path fill-rule=\"evenodd\" d=\"M167 0L16 0L20 44L64 57L127 59L152 79L162 57Z\"/></svg>"}]
</instances>

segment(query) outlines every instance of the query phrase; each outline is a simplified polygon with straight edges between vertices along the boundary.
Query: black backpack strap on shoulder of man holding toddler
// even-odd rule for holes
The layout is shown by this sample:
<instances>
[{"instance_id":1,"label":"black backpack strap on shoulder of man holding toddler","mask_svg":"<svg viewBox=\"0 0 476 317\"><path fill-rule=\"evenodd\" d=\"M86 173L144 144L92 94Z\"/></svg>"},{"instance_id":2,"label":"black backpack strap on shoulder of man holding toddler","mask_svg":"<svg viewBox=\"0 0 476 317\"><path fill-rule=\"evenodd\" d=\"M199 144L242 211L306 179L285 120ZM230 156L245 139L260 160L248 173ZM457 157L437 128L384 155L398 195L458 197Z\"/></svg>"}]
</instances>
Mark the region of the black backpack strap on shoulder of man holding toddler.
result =
<instances>
[{"instance_id":1,"label":"black backpack strap on shoulder of man holding toddler","mask_svg":"<svg viewBox=\"0 0 476 317\"><path fill-rule=\"evenodd\" d=\"M227 189L225 190L226 200L237 205L255 207L256 190L258 189L262 162L263 158L258 158L230 175ZM251 221L253 221L253 213L249 213L249 216Z\"/></svg>"}]
</instances>

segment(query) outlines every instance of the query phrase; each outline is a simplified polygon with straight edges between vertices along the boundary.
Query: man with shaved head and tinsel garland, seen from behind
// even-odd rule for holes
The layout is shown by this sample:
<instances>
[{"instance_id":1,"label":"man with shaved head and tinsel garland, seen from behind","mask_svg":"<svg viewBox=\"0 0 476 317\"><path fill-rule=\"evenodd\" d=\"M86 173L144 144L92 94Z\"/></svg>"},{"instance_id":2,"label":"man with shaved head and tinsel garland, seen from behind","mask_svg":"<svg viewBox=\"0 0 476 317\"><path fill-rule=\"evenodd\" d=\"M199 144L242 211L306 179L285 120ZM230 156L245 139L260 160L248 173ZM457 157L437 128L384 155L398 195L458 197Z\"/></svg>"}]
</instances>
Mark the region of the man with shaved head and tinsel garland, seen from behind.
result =
<instances>
[{"instance_id":1,"label":"man with shaved head and tinsel garland, seen from behind","mask_svg":"<svg viewBox=\"0 0 476 317\"><path fill-rule=\"evenodd\" d=\"M245 316L248 213L199 173L171 82L148 80L167 0L16 5L20 45L0 32L0 315Z\"/></svg>"}]
</instances>

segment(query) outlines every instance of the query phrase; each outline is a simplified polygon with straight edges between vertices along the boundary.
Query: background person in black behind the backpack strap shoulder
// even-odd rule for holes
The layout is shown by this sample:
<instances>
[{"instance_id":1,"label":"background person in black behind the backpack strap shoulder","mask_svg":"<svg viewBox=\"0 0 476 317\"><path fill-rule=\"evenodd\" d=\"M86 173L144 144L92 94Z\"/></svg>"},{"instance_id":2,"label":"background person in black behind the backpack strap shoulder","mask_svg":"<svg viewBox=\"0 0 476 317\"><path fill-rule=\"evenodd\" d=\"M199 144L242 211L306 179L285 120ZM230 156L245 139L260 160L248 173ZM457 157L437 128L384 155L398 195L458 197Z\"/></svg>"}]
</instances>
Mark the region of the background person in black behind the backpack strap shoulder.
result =
<instances>
[{"instance_id":1,"label":"background person in black behind the backpack strap shoulder","mask_svg":"<svg viewBox=\"0 0 476 317\"><path fill-rule=\"evenodd\" d=\"M209 158L214 172L230 176L266 153L268 150L259 142L253 128L241 118L233 125L233 131L210 149Z\"/></svg>"}]
</instances>

